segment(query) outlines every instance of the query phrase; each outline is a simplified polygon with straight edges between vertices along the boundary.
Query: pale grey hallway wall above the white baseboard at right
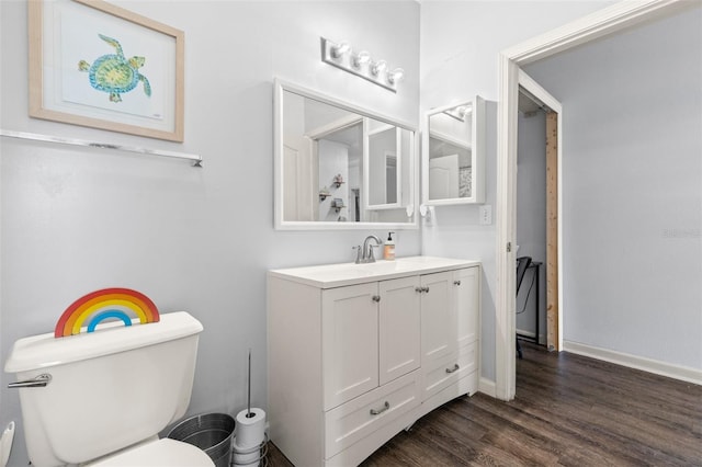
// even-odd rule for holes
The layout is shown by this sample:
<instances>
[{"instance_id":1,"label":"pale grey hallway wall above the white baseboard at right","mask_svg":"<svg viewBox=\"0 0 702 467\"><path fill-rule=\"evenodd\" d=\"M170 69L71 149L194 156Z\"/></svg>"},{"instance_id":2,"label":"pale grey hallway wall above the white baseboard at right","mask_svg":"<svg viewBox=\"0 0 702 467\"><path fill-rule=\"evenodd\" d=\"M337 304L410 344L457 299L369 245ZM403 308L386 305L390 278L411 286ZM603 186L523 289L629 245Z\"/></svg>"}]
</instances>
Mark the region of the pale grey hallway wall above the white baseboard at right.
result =
<instances>
[{"instance_id":1,"label":"pale grey hallway wall above the white baseboard at right","mask_svg":"<svg viewBox=\"0 0 702 467\"><path fill-rule=\"evenodd\" d=\"M702 5L526 72L563 103L564 339L702 369Z\"/></svg>"}]
</instances>

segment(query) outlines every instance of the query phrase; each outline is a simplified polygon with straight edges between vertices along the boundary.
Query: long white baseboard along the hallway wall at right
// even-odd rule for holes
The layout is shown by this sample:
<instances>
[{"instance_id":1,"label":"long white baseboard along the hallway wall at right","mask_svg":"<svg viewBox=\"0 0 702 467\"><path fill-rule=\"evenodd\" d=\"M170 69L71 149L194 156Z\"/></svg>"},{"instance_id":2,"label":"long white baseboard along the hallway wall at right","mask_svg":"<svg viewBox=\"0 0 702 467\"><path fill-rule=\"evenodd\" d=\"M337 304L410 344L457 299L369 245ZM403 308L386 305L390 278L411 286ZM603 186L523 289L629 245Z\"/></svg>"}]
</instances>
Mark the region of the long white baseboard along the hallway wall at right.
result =
<instances>
[{"instance_id":1,"label":"long white baseboard along the hallway wall at right","mask_svg":"<svg viewBox=\"0 0 702 467\"><path fill-rule=\"evenodd\" d=\"M691 368L689 366L673 365L658 360L646 358L638 355L632 355L623 352L616 352L609 349L596 348L593 345L582 344L580 342L563 341L563 350L576 353L578 355L589 356L605 362L615 363L618 365L627 366L630 368L642 369L644 372L654 373L656 375L667 376L669 378L680 379L682 381L692 383L702 386L702 371ZM480 379L480 388L483 380Z\"/></svg>"}]
</instances>

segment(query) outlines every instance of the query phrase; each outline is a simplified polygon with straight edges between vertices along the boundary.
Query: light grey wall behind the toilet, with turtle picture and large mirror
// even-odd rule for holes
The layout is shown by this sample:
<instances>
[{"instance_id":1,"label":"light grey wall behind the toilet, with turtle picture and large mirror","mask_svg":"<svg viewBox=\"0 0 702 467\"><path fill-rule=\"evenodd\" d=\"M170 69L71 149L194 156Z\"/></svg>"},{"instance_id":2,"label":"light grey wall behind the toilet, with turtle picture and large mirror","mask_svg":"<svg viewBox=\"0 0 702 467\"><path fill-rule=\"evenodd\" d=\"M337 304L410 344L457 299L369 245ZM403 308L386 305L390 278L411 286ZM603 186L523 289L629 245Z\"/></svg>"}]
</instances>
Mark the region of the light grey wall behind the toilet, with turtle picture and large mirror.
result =
<instances>
[{"instance_id":1,"label":"light grey wall behind the toilet, with turtle picture and large mirror","mask_svg":"<svg viewBox=\"0 0 702 467\"><path fill-rule=\"evenodd\" d=\"M25 1L1 1L1 127L200 153L204 168L2 138L0 361L49 332L81 295L106 286L185 309L205 331L190 413L264 407L265 271L352 261L385 231L274 231L272 80L418 122L419 5L392 2L114 1L185 32L185 143L27 117ZM319 36L347 38L406 70L397 94L320 60ZM418 230L397 254L420 253ZM0 374L0 426L19 422L11 465L26 465L13 375ZM137 384L135 381L135 384Z\"/></svg>"}]
</instances>

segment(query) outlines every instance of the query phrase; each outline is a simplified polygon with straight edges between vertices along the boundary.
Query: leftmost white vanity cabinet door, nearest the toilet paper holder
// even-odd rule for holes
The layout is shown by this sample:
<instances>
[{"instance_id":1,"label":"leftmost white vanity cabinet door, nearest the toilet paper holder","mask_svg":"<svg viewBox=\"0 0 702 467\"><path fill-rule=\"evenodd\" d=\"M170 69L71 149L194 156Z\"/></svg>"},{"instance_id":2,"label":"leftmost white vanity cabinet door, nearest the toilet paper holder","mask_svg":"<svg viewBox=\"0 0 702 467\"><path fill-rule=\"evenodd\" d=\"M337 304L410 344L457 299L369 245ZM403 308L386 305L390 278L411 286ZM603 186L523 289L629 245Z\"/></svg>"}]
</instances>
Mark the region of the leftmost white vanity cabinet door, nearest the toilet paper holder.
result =
<instances>
[{"instance_id":1,"label":"leftmost white vanity cabinet door, nearest the toilet paper holder","mask_svg":"<svg viewBox=\"0 0 702 467\"><path fill-rule=\"evenodd\" d=\"M377 387L377 283L321 294L325 410Z\"/></svg>"}]
</instances>

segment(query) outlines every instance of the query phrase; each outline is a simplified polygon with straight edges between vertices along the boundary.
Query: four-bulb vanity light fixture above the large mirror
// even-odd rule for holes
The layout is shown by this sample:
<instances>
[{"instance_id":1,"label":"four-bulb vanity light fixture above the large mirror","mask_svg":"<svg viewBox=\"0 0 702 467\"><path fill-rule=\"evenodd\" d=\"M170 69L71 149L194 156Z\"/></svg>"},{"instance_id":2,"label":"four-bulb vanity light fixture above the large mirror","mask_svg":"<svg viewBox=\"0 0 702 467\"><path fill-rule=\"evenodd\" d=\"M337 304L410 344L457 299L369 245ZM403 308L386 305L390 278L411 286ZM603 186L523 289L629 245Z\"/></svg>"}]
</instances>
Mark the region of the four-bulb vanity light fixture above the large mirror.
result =
<instances>
[{"instance_id":1,"label":"four-bulb vanity light fixture above the large mirror","mask_svg":"<svg viewBox=\"0 0 702 467\"><path fill-rule=\"evenodd\" d=\"M321 37L321 61L393 92L397 92L397 83L405 76L401 68L389 71L387 61L373 60L365 50L354 52L346 41L333 42Z\"/></svg>"}]
</instances>

